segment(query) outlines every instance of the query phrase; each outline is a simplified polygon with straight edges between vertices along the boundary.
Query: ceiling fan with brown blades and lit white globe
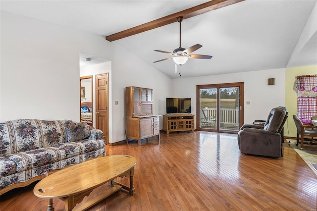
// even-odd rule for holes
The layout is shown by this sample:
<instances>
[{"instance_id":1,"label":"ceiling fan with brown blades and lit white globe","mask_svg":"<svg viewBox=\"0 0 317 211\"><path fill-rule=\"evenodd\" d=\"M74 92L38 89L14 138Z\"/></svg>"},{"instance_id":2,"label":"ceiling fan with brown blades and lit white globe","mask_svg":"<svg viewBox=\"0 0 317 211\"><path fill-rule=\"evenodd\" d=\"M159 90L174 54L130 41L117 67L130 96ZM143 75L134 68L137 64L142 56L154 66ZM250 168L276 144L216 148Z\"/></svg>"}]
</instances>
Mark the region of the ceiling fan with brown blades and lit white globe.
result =
<instances>
[{"instance_id":1,"label":"ceiling fan with brown blades and lit white globe","mask_svg":"<svg viewBox=\"0 0 317 211\"><path fill-rule=\"evenodd\" d=\"M169 57L169 58L160 59L158 61L154 61L153 63L168 60L168 59L172 58L176 64L183 65L183 64L185 64L185 62L187 61L188 58L208 58L208 59L210 59L212 57L212 55L191 54L192 52L203 47L200 44L196 44L196 45L191 46L187 49L184 49L181 47L181 23L182 23L183 19L184 19L183 17L177 18L177 20L179 22L179 48L175 49L173 51L173 53L164 52L164 51L160 51L160 50L154 50L156 52L167 53L167 54L171 54L173 56Z\"/></svg>"}]
</instances>

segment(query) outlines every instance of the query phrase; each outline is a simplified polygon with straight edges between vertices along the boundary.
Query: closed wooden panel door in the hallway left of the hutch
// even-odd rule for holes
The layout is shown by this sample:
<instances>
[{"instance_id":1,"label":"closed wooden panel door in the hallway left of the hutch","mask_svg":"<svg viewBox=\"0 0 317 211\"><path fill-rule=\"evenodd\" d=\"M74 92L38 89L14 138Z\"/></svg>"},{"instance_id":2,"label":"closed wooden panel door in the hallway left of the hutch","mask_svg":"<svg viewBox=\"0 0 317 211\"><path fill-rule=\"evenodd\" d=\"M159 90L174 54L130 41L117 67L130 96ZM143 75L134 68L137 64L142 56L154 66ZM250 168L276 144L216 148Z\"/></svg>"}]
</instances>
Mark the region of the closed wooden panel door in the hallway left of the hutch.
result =
<instances>
[{"instance_id":1,"label":"closed wooden panel door in the hallway left of the hutch","mask_svg":"<svg viewBox=\"0 0 317 211\"><path fill-rule=\"evenodd\" d=\"M96 75L96 128L103 131L108 144L108 73Z\"/></svg>"}]
</instances>

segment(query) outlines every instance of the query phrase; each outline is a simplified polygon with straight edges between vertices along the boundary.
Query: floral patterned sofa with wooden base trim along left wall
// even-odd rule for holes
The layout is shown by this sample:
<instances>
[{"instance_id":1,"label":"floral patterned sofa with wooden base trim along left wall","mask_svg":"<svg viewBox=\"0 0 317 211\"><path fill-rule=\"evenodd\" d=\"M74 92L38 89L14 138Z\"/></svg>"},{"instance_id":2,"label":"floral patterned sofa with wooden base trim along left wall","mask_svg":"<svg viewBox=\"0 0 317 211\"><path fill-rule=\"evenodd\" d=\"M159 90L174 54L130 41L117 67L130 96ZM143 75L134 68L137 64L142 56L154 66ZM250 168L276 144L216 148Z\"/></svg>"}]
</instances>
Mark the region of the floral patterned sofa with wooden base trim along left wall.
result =
<instances>
[{"instance_id":1,"label":"floral patterned sofa with wooden base trim along left wall","mask_svg":"<svg viewBox=\"0 0 317 211\"><path fill-rule=\"evenodd\" d=\"M105 156L103 132L72 120L0 123L0 195L48 173Z\"/></svg>"}]
</instances>

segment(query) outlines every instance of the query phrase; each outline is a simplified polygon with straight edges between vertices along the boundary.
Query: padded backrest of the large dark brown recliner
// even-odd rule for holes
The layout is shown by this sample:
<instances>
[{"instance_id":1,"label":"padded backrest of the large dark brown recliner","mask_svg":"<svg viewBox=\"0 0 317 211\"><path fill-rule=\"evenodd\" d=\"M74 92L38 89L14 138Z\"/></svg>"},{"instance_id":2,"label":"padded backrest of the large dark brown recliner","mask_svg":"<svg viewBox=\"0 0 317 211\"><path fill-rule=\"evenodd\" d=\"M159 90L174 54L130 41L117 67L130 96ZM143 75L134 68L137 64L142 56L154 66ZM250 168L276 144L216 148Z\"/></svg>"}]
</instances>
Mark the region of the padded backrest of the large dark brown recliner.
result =
<instances>
[{"instance_id":1,"label":"padded backrest of the large dark brown recliner","mask_svg":"<svg viewBox=\"0 0 317 211\"><path fill-rule=\"evenodd\" d=\"M285 123L287 118L285 118L285 115L286 110L282 107L274 107L273 109L271 109L264 123L263 130L268 130L274 133L280 131L283 122Z\"/></svg>"}]
</instances>

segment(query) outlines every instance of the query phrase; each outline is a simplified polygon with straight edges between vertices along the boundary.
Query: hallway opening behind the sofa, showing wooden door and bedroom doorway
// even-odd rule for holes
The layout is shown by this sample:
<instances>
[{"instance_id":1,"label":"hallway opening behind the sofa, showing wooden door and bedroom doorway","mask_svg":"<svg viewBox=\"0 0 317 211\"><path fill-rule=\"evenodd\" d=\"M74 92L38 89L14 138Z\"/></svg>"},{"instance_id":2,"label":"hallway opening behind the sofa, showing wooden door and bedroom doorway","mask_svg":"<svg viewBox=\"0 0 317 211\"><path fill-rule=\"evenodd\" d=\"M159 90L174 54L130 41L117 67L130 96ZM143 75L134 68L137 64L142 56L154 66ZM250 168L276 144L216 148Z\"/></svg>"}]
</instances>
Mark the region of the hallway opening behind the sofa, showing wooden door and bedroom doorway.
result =
<instances>
[{"instance_id":1,"label":"hallway opening behind the sofa, showing wooden door and bedroom doorway","mask_svg":"<svg viewBox=\"0 0 317 211\"><path fill-rule=\"evenodd\" d=\"M111 72L111 61L87 53L80 53L80 119L81 122L91 121L91 125L103 131L103 139L109 144L109 106L108 106L108 74ZM106 75L103 79L99 76ZM89 88L85 83L91 81ZM105 84L105 89L100 87ZM98 86L98 87L97 87ZM91 94L91 97L90 97ZM86 110L87 107L87 110ZM89 109L91 107L91 109ZM84 112L83 111L84 109ZM91 112L90 112L91 111ZM83 117L86 119L83 119ZM89 119L91 117L91 120Z\"/></svg>"}]
</instances>

